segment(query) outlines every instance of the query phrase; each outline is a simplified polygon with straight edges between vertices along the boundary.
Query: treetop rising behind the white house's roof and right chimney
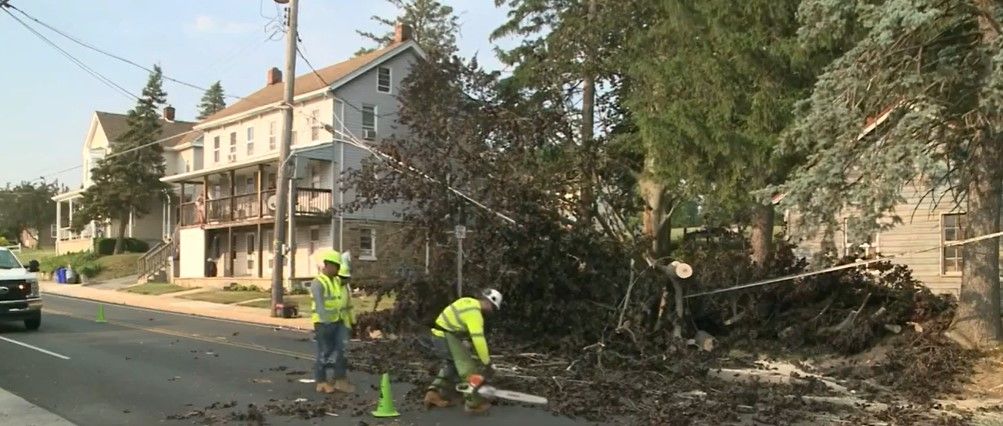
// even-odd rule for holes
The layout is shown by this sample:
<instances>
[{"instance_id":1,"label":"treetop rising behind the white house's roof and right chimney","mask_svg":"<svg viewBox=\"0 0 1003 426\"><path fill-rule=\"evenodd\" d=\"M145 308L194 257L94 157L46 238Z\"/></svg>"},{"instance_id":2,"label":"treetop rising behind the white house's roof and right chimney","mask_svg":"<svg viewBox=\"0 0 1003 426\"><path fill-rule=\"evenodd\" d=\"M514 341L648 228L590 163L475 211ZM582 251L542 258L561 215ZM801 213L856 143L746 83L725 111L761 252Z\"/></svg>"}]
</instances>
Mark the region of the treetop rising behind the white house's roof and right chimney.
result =
<instances>
[{"instance_id":1,"label":"treetop rising behind the white house's roof and right chimney","mask_svg":"<svg viewBox=\"0 0 1003 426\"><path fill-rule=\"evenodd\" d=\"M379 46L389 45L393 41L394 27L398 22L409 25L412 37L421 49L433 60L448 58L456 53L456 33L459 32L459 19L453 14L452 7L435 0L386 0L397 8L400 15L396 20L373 16L371 19L381 26L388 27L382 34L368 31L356 31L362 37L376 42ZM356 52L362 54L373 49L363 48Z\"/></svg>"}]
</instances>

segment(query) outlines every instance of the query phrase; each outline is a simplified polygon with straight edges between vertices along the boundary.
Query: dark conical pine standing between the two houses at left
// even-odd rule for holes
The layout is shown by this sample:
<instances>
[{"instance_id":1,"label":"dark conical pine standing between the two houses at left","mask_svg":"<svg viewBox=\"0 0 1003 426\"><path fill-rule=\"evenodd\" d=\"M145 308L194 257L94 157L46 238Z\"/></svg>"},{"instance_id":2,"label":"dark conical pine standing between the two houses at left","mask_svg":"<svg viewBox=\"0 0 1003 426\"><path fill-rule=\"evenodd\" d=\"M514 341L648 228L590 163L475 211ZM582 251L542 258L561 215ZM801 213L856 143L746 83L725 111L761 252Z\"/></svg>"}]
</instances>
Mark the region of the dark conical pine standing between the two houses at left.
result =
<instances>
[{"instance_id":1,"label":"dark conical pine standing between the two houses at left","mask_svg":"<svg viewBox=\"0 0 1003 426\"><path fill-rule=\"evenodd\" d=\"M163 148L151 142L160 137L160 108L166 102L162 72L153 66L142 96L127 114L128 130L110 141L109 156L97 161L91 170L94 184L83 192L83 208L74 218L74 228L90 221L117 221L115 253L121 253L129 216L141 218L150 205L163 196L168 185L160 181L164 173Z\"/></svg>"}]
</instances>

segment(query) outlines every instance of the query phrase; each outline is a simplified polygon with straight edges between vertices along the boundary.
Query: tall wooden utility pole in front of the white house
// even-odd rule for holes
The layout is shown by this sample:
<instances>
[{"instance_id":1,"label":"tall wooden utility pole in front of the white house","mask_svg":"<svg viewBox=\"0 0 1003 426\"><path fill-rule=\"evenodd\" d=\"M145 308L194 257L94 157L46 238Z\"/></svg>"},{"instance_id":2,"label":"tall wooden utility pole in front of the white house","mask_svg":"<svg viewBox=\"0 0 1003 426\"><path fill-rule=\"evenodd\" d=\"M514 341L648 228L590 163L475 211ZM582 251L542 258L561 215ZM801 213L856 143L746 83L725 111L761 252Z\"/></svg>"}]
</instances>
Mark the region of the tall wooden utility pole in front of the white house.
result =
<instances>
[{"instance_id":1,"label":"tall wooden utility pole in front of the white house","mask_svg":"<svg viewBox=\"0 0 1003 426\"><path fill-rule=\"evenodd\" d=\"M285 1L278 1L285 3ZM296 81L296 41L298 39L296 24L299 14L299 0L288 0L289 25L286 31L286 71L285 95L282 104L282 144L279 145L279 167L276 170L276 200L275 203L275 268L272 268L272 316L276 305L282 304L283 282L285 280L284 266L286 262L286 224L288 221L288 177L289 151L293 139L293 94Z\"/></svg>"}]
</instances>

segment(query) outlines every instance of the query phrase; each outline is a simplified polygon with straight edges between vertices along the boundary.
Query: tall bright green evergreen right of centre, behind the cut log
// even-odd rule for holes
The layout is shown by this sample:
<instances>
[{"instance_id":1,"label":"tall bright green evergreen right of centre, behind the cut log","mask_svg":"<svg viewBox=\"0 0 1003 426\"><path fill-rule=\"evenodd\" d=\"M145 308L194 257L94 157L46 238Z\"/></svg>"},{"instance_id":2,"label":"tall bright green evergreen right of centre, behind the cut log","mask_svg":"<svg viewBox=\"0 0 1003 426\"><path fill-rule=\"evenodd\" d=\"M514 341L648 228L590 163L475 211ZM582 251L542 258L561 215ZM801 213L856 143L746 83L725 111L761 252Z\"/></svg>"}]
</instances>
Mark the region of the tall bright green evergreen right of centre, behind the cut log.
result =
<instances>
[{"instance_id":1,"label":"tall bright green evergreen right of centre, behind the cut log","mask_svg":"<svg viewBox=\"0 0 1003 426\"><path fill-rule=\"evenodd\" d=\"M789 170L790 158L774 148L820 69L797 41L799 3L665 0L630 40L626 101L653 159L646 183L685 181L691 193L679 195L703 197L716 222L751 225L760 267L771 255L774 215L769 197L751 191Z\"/></svg>"}]
</instances>

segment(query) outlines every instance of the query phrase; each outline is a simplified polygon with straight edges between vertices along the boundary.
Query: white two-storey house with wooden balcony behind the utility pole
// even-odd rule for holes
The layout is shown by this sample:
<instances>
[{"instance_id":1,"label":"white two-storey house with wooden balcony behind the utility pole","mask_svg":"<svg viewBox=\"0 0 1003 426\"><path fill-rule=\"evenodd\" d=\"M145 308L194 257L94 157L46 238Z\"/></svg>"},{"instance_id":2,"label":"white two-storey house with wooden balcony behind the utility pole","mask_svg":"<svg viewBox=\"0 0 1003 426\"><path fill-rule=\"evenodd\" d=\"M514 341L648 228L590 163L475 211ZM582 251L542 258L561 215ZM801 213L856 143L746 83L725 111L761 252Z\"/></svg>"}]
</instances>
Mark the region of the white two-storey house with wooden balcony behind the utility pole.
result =
<instances>
[{"instance_id":1,"label":"white two-storey house with wooden balcony behind the utility pole","mask_svg":"<svg viewBox=\"0 0 1003 426\"><path fill-rule=\"evenodd\" d=\"M333 214L354 198L342 176L374 143L406 129L396 124L401 81L425 54L398 26L388 46L296 77L291 163L295 166L291 263L287 278L316 274L310 258L324 248L351 251L353 276L382 276L414 258L400 235L401 205ZM272 68L257 92L207 117L202 169L163 178L181 198L175 281L267 287L274 262L274 208L282 140L283 75ZM331 134L324 125L332 126ZM350 136L351 135L351 136Z\"/></svg>"}]
</instances>

